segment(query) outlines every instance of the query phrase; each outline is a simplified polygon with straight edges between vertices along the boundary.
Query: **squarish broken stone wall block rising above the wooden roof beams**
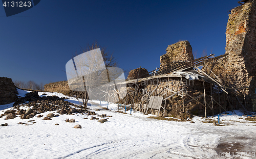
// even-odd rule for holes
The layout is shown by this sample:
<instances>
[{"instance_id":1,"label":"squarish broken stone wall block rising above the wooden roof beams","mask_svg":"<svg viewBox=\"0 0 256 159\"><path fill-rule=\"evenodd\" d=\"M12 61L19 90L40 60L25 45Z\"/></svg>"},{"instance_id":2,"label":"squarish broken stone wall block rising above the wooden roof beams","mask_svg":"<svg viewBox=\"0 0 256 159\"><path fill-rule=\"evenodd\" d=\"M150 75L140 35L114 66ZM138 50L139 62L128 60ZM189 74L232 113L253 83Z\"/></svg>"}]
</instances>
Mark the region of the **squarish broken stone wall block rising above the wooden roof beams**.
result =
<instances>
[{"instance_id":1,"label":"squarish broken stone wall block rising above the wooden roof beams","mask_svg":"<svg viewBox=\"0 0 256 159\"><path fill-rule=\"evenodd\" d=\"M160 57L160 67L170 62L193 61L192 47L188 41L180 41L169 45L166 54Z\"/></svg>"}]
</instances>

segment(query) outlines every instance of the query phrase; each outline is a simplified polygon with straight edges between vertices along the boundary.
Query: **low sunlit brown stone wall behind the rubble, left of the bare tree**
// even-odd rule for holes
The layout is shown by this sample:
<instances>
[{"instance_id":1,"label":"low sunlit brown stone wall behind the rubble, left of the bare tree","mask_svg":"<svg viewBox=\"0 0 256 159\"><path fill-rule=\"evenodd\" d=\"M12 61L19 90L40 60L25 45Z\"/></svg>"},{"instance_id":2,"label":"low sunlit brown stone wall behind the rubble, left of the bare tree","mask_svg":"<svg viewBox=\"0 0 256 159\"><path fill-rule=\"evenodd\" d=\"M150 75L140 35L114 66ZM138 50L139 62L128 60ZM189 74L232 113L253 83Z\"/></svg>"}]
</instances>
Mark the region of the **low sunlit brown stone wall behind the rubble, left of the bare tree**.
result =
<instances>
[{"instance_id":1,"label":"low sunlit brown stone wall behind the rubble, left of the bare tree","mask_svg":"<svg viewBox=\"0 0 256 159\"><path fill-rule=\"evenodd\" d=\"M68 81L59 81L55 83L46 84L44 86L45 91L49 92L58 92L67 94L67 92L70 92Z\"/></svg>"}]
</instances>

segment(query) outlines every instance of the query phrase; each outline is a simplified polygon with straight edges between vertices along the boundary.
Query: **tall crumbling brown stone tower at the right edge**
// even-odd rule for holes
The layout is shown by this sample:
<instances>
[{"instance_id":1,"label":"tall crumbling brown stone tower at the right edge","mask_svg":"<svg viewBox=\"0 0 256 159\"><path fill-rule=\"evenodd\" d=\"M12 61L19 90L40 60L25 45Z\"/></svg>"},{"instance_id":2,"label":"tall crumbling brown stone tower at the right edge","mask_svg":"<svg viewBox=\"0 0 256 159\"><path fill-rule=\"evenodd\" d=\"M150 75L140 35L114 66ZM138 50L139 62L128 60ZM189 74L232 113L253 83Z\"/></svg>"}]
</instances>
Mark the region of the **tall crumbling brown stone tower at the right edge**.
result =
<instances>
[{"instance_id":1,"label":"tall crumbling brown stone tower at the right edge","mask_svg":"<svg viewBox=\"0 0 256 159\"><path fill-rule=\"evenodd\" d=\"M245 90L246 103L256 111L256 2L248 0L233 8L226 30L225 65L230 87L249 87ZM225 76L225 75L224 75ZM241 91L241 90L240 90Z\"/></svg>"}]
</instances>

